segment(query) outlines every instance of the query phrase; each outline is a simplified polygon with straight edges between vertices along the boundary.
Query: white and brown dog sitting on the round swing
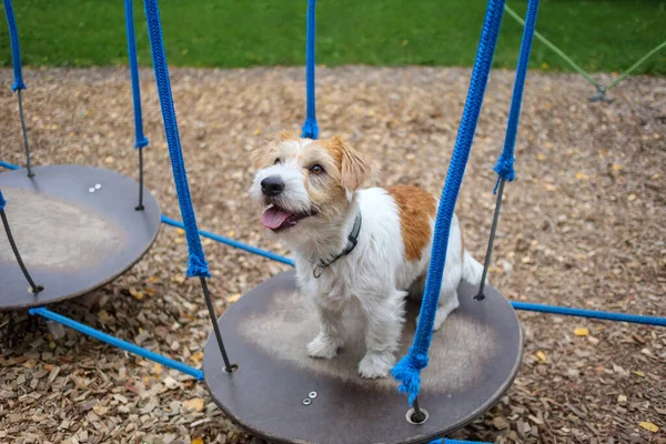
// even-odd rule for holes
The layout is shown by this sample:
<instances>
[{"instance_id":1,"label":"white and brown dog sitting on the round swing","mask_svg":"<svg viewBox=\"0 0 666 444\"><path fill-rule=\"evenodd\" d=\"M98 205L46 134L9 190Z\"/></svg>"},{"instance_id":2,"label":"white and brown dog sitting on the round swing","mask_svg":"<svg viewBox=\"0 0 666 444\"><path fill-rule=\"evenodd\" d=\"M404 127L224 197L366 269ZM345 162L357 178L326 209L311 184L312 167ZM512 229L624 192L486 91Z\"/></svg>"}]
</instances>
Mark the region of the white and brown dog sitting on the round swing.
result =
<instances>
[{"instance_id":1,"label":"white and brown dog sitting on the round swing","mask_svg":"<svg viewBox=\"0 0 666 444\"><path fill-rule=\"evenodd\" d=\"M321 332L307 344L331 359L343 346L343 311L366 320L363 377L389 375L404 324L405 296L421 299L431 255L437 200L415 186L361 189L374 162L339 138L287 133L256 151L250 189L264 206L263 225L295 254L300 290L314 297ZM482 265L464 250L454 216L435 330L458 306L461 279L478 284Z\"/></svg>"}]
</instances>

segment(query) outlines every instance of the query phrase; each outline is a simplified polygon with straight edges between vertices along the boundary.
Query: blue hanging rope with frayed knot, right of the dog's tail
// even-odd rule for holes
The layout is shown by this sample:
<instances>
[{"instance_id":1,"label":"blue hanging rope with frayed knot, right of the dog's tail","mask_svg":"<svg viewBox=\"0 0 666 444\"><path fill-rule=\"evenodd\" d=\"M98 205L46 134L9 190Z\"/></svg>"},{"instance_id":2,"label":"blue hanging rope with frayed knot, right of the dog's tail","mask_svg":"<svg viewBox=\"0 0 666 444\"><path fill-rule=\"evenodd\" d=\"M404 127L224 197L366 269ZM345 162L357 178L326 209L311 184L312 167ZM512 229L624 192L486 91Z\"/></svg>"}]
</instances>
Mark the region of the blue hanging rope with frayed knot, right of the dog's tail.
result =
<instances>
[{"instance_id":1,"label":"blue hanging rope with frayed knot, right of the dog's tail","mask_svg":"<svg viewBox=\"0 0 666 444\"><path fill-rule=\"evenodd\" d=\"M514 170L514 149L516 147L516 134L518 132L518 120L521 118L521 105L523 104L523 91L525 89L525 79L527 78L527 63L529 62L529 52L532 51L532 40L534 39L534 29L536 28L536 13L538 11L538 0L529 0L525 28L523 30L523 41L521 42L521 56L516 69L516 80L514 83L513 97L511 100L511 110L508 112L508 123L506 124L506 137L504 139L504 150L497 159L495 172L500 174L493 194L497 192L500 180L504 179L512 182L516 178Z\"/></svg>"}]
</instances>

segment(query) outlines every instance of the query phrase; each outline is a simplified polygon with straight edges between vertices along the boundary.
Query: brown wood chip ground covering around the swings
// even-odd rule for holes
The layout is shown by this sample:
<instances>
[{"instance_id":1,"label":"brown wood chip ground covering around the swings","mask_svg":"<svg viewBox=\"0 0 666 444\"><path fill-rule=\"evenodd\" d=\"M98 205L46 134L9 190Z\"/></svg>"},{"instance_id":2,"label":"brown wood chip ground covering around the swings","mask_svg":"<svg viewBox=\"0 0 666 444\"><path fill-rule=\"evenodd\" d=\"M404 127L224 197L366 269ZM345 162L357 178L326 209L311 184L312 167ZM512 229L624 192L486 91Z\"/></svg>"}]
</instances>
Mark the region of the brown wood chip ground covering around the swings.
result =
<instances>
[{"instance_id":1,"label":"brown wood chip ground covering around the swings","mask_svg":"<svg viewBox=\"0 0 666 444\"><path fill-rule=\"evenodd\" d=\"M249 151L304 118L302 68L173 69L172 85L200 228L287 254L261 232L246 196ZM34 164L81 163L135 178L125 68L26 70ZM610 75L601 75L605 81ZM463 68L317 70L322 138L342 135L382 164L381 183L440 193L468 85ZM457 205L467 249L483 260L513 71L495 70ZM12 83L10 69L0 84ZM180 219L149 69L141 71L145 184ZM529 72L491 282L517 301L666 315L666 78L634 77L613 103L576 74ZM0 90L0 160L22 164L16 98ZM218 313L289 270L204 240ZM186 243L163 226L129 273L53 307L200 367L210 323ZM454 437L525 443L663 443L666 331L519 312L524 362L512 389ZM0 326L8 322L0 315ZM245 443L189 376L67 332L21 332L0 352L0 442ZM297 346L297 344L294 344ZM304 344L303 344L304 346ZM436 353L433 350L432 353ZM242 356L231 356L242 366ZM426 370L427 371L427 370ZM396 394L396 402L406 401ZM656 431L655 431L656 427ZM652 431L650 431L652 430Z\"/></svg>"}]
</instances>

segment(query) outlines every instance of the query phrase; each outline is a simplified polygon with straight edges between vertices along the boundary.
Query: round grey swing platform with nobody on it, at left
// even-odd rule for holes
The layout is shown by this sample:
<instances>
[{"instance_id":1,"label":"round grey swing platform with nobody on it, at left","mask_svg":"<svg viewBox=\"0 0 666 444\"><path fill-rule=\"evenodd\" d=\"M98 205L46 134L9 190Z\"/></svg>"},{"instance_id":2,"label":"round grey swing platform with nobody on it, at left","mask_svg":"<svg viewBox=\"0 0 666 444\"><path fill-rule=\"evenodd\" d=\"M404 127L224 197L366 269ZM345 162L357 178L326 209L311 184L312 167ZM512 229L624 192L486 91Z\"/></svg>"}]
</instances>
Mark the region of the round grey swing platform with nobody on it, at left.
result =
<instances>
[{"instance_id":1,"label":"round grey swing platform with nobody on it, at left","mask_svg":"<svg viewBox=\"0 0 666 444\"><path fill-rule=\"evenodd\" d=\"M0 174L4 212L22 260L43 290L33 294L0 228L0 311L80 296L135 264L160 231L158 202L139 183L85 165L47 165Z\"/></svg>"}]
</instances>

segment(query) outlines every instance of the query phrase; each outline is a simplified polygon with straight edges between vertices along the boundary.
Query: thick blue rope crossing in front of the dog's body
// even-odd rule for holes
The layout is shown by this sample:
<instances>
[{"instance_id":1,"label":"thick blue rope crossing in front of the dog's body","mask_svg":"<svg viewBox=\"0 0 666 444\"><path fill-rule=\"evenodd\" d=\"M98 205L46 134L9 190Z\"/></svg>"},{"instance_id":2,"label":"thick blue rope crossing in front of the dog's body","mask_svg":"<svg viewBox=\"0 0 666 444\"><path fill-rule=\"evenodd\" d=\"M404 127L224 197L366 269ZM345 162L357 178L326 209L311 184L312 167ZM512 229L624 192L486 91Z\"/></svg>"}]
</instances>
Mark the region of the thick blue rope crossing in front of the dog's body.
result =
<instances>
[{"instance_id":1,"label":"thick blue rope crossing in front of the dog's body","mask_svg":"<svg viewBox=\"0 0 666 444\"><path fill-rule=\"evenodd\" d=\"M486 16L476 51L476 60L472 70L472 80L467 91L467 100L458 129L457 139L451 158L446 182L442 192L442 200L437 210L435 232L431 253L431 263L423 302L421 317L416 326L414 342L410 352L393 367L393 376L401 383L400 392L407 393L410 404L414 403L421 385L421 370L427 366L427 352L433 334L433 324L437 311L440 290L442 289L442 274L446 262L448 246L448 232L455 202L465 173L465 165L474 140L474 131L478 121L481 105L488 81L488 73L493 62L497 34L502 24L504 0L488 0Z\"/></svg>"}]
</instances>

